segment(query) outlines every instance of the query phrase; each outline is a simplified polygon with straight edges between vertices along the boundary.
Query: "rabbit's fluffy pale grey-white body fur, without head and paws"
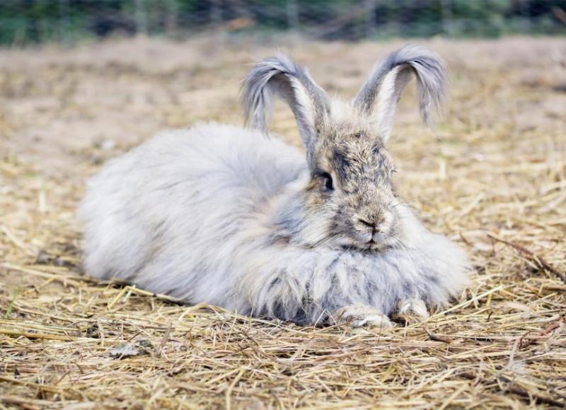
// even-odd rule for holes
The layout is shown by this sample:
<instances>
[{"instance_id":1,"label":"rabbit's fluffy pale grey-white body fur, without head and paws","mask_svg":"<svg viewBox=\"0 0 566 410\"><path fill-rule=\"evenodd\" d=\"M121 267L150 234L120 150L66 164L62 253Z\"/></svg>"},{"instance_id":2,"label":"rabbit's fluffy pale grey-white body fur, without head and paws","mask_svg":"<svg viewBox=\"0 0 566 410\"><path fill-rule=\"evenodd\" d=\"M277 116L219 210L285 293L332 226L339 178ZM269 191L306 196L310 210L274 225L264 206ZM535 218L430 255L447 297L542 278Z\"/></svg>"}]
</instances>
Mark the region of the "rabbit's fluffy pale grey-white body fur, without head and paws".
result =
<instances>
[{"instance_id":1,"label":"rabbit's fluffy pale grey-white body fur, without head and paws","mask_svg":"<svg viewBox=\"0 0 566 410\"><path fill-rule=\"evenodd\" d=\"M466 256L406 209L408 245L383 253L274 240L274 215L308 182L304 154L259 132L200 125L149 140L88 184L85 266L154 292L241 314L315 323L347 304L391 314L444 304Z\"/></svg>"}]
</instances>

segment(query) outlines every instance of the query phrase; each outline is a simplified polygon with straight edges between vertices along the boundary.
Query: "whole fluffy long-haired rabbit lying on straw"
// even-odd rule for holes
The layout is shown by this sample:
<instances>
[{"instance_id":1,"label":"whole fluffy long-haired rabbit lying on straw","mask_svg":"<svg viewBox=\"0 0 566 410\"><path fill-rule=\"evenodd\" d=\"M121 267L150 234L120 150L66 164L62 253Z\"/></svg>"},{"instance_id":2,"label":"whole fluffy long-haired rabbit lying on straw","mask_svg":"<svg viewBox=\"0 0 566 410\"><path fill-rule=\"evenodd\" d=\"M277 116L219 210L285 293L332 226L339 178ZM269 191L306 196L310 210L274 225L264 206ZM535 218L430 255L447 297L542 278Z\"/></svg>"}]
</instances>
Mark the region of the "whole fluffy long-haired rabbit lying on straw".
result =
<instances>
[{"instance_id":1,"label":"whole fluffy long-haired rabbit lying on straw","mask_svg":"<svg viewBox=\"0 0 566 410\"><path fill-rule=\"evenodd\" d=\"M91 178L79 210L86 272L296 324L426 319L463 290L469 265L395 193L386 143L412 76L432 126L446 69L422 47L386 57L350 103L286 55L258 62L242 86L247 127L165 132ZM275 96L306 154L268 135Z\"/></svg>"}]
</instances>

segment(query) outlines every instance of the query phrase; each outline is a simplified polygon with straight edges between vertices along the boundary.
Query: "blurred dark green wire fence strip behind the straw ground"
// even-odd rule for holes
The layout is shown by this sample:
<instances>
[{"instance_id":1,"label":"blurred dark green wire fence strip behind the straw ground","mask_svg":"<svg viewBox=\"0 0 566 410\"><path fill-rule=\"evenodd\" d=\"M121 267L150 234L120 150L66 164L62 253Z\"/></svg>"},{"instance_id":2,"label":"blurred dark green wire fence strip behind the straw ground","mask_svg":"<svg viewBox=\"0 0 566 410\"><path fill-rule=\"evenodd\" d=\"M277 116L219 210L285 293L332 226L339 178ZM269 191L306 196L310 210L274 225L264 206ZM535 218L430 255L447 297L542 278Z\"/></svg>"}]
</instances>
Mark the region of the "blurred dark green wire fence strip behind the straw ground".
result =
<instances>
[{"instance_id":1,"label":"blurred dark green wire fence strip behind the straw ground","mask_svg":"<svg viewBox=\"0 0 566 410\"><path fill-rule=\"evenodd\" d=\"M566 34L566 0L0 0L0 44L109 35L318 39Z\"/></svg>"}]
</instances>

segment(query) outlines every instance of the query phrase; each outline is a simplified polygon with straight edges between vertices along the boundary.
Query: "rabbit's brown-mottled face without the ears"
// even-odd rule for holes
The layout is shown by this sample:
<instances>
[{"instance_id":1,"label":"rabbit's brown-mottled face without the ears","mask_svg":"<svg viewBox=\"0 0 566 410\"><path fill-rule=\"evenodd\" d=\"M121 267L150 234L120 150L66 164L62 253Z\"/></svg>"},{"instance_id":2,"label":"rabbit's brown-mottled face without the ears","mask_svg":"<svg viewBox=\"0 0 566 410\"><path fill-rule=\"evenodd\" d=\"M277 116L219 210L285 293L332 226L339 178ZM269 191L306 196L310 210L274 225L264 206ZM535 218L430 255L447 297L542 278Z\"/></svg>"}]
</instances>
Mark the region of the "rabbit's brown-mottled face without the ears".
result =
<instances>
[{"instance_id":1,"label":"rabbit's brown-mottled face without the ears","mask_svg":"<svg viewBox=\"0 0 566 410\"><path fill-rule=\"evenodd\" d=\"M391 176L393 159L381 139L366 132L335 134L316 147L311 200L329 218L339 246L386 249L400 238L400 201Z\"/></svg>"}]
</instances>

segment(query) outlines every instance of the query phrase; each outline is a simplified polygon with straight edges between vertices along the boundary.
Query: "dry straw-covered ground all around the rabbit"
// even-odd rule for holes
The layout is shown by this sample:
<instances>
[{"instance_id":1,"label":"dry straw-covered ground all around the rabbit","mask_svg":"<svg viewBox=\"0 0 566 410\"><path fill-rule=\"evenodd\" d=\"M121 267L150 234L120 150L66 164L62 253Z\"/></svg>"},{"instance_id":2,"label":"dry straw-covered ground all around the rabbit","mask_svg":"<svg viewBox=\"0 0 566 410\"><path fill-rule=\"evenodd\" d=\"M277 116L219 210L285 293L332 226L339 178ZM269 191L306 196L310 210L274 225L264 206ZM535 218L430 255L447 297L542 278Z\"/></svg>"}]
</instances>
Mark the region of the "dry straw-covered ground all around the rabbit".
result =
<instances>
[{"instance_id":1,"label":"dry straw-covered ground all around the rabbit","mask_svg":"<svg viewBox=\"0 0 566 410\"><path fill-rule=\"evenodd\" d=\"M86 177L157 130L241 123L238 81L275 47L0 51L0 408L565 406L566 41L424 43L451 66L451 104L437 139L401 101L398 185L475 273L453 307L392 331L248 319L83 275ZM352 95L398 45L288 48ZM298 141L289 110L273 124Z\"/></svg>"}]
</instances>

